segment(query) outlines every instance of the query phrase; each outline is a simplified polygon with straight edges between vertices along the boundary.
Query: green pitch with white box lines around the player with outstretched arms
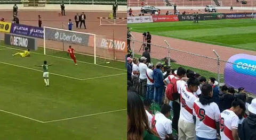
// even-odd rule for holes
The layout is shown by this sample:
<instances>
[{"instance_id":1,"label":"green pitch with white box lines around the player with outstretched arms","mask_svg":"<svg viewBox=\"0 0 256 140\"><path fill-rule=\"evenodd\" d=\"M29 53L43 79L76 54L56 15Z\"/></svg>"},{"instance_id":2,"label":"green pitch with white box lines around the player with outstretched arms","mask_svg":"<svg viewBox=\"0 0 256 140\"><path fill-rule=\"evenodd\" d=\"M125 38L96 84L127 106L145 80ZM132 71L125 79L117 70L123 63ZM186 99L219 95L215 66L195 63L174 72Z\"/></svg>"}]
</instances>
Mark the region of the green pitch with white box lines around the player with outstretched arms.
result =
<instances>
[{"instance_id":1,"label":"green pitch with white box lines around the player with outstretched arms","mask_svg":"<svg viewBox=\"0 0 256 140\"><path fill-rule=\"evenodd\" d=\"M125 64L94 65L93 58L42 48L30 57L0 43L0 139L125 139ZM43 80L43 61L50 86Z\"/></svg>"}]
</instances>

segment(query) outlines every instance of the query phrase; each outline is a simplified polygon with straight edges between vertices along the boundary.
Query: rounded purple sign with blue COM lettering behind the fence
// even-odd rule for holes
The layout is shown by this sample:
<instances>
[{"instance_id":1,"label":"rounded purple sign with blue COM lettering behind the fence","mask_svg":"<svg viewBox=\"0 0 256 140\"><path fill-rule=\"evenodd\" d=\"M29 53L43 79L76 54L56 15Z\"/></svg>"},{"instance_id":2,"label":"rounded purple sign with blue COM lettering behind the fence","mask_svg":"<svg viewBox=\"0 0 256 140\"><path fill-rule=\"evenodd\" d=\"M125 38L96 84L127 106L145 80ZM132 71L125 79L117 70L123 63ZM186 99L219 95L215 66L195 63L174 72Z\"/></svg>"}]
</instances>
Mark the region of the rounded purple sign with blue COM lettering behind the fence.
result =
<instances>
[{"instance_id":1,"label":"rounded purple sign with blue COM lettering behind the fence","mask_svg":"<svg viewBox=\"0 0 256 140\"><path fill-rule=\"evenodd\" d=\"M237 54L231 56L224 71L225 83L256 94L256 56Z\"/></svg>"}]
</instances>

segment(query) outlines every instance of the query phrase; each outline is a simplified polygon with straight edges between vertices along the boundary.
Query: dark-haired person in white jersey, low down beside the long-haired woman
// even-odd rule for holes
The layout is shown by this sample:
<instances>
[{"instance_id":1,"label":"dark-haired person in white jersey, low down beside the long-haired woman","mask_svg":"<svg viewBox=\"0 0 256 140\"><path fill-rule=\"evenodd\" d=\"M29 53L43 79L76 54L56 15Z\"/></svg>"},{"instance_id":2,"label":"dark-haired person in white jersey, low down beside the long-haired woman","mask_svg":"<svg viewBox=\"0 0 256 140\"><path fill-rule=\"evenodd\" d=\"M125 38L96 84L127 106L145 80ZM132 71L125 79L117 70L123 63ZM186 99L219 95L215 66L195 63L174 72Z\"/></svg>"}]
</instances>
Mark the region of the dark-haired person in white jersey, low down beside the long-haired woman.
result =
<instances>
[{"instance_id":1,"label":"dark-haired person in white jersey, low down beside the long-haired woman","mask_svg":"<svg viewBox=\"0 0 256 140\"><path fill-rule=\"evenodd\" d=\"M171 106L169 104L163 104L161 113L156 113L151 121L151 128L158 133L161 139L173 139L172 121L168 119L170 110Z\"/></svg>"}]
</instances>

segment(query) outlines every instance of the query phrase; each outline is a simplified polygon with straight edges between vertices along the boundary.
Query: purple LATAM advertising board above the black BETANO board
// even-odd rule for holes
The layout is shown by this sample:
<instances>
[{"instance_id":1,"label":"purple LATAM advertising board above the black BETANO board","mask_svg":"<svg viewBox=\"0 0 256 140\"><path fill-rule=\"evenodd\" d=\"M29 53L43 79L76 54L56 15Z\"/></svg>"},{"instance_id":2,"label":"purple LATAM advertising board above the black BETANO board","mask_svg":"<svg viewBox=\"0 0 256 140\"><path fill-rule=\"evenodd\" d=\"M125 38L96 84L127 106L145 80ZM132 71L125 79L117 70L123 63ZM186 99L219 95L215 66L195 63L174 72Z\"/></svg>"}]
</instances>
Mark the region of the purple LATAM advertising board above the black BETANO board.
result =
<instances>
[{"instance_id":1,"label":"purple LATAM advertising board above the black BETANO board","mask_svg":"<svg viewBox=\"0 0 256 140\"><path fill-rule=\"evenodd\" d=\"M33 38L44 38L44 28L23 24L12 24L11 33Z\"/></svg>"}]
</instances>

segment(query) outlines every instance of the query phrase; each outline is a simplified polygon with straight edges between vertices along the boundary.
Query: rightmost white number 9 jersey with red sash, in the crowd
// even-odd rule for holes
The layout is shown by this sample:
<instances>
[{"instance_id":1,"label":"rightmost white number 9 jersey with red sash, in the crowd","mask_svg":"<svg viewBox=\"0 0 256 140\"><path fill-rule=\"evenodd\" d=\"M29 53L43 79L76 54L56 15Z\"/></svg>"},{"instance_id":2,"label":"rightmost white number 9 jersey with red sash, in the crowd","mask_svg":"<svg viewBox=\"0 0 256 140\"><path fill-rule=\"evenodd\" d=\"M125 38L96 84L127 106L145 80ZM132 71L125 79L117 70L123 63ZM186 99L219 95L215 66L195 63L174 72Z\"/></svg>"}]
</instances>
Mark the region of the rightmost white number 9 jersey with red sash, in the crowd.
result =
<instances>
[{"instance_id":1,"label":"rightmost white number 9 jersey with red sash, in the crowd","mask_svg":"<svg viewBox=\"0 0 256 140\"><path fill-rule=\"evenodd\" d=\"M232 129L238 129L239 118L232 110L224 110L220 114L221 140L233 140Z\"/></svg>"}]
</instances>

